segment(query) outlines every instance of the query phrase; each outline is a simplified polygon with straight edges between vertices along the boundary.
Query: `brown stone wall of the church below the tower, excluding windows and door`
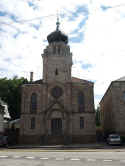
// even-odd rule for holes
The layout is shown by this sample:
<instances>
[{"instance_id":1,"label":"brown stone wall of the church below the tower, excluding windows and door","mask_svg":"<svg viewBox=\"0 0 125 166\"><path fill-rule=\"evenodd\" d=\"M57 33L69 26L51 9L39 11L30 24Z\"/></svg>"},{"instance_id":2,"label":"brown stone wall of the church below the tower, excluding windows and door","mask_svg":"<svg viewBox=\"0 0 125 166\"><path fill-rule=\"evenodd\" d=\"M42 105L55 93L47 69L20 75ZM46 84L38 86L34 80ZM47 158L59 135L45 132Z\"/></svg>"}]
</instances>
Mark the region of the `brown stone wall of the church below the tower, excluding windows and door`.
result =
<instances>
[{"instance_id":1,"label":"brown stone wall of the church below the tower, excluding windows and door","mask_svg":"<svg viewBox=\"0 0 125 166\"><path fill-rule=\"evenodd\" d=\"M63 88L63 95L51 108L50 106L51 104L53 104L53 101L55 99L51 96L50 91L56 85ZM87 92L85 93L85 110L83 111L83 113L80 113L78 111L77 91L79 90ZM31 114L29 110L30 97L33 92L38 94L38 110L35 114ZM57 112L55 111L56 114L53 114L53 112L51 113L51 111L53 110L57 110ZM48 117L48 115L50 117ZM51 135L51 118L53 118L53 116L60 116L60 118L63 119L63 133L68 134L70 137L72 137L74 140L73 142L77 142L77 140L87 141L87 139L85 138L91 137L91 135L93 138L96 135L93 86L87 84L80 84L78 86L76 84L74 85L73 83L59 84L56 82L52 84L44 83L41 85L31 84L23 86L20 129L20 140L22 140L22 143L25 142L23 141L24 138L26 138L27 140L30 136L31 138L34 138L33 143L35 143L34 141L39 140L42 135ZM36 126L34 130L30 127L32 117L35 117L36 119ZM80 117L84 118L83 129L80 129ZM66 126L68 126L68 128L66 128ZM84 139L81 139L82 136L84 137Z\"/></svg>"}]
</instances>

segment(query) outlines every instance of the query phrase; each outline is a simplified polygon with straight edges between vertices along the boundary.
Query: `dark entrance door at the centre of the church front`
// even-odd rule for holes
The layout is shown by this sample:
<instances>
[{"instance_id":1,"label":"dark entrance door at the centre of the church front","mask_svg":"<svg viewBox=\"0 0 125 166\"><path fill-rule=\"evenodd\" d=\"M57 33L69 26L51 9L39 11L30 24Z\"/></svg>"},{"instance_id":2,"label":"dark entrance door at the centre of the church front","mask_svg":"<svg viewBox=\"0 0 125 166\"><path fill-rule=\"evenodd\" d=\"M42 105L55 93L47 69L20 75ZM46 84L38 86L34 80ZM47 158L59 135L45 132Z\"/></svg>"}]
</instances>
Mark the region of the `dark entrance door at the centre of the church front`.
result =
<instances>
[{"instance_id":1,"label":"dark entrance door at the centre of the church front","mask_svg":"<svg viewBox=\"0 0 125 166\"><path fill-rule=\"evenodd\" d=\"M52 135L62 134L62 119L61 118L55 118L51 120L51 131L52 131Z\"/></svg>"}]
</instances>

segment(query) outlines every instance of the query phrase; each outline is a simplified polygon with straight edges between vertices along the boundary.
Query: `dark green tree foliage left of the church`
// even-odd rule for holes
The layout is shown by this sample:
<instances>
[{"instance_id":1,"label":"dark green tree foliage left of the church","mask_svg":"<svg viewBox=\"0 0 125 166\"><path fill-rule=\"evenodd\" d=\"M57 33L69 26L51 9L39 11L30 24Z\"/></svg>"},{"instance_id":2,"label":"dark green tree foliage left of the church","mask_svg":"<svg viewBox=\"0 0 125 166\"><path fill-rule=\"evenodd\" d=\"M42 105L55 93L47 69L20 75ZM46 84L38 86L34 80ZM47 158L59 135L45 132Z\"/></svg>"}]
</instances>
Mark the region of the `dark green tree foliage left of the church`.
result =
<instances>
[{"instance_id":1,"label":"dark green tree foliage left of the church","mask_svg":"<svg viewBox=\"0 0 125 166\"><path fill-rule=\"evenodd\" d=\"M0 97L8 104L8 110L12 119L20 117L21 85L24 83L28 83L28 81L23 77L0 78Z\"/></svg>"}]
</instances>

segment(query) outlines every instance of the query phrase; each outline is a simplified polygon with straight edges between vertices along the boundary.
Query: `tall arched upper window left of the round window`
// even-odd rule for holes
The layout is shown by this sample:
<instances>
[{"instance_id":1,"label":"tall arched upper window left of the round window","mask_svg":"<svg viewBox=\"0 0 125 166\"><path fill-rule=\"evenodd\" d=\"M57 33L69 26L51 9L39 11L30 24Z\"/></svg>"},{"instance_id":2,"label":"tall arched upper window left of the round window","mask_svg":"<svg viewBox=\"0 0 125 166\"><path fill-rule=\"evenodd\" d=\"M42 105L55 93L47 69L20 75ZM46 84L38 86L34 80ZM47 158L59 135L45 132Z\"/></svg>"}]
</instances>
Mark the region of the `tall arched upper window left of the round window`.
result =
<instances>
[{"instance_id":1,"label":"tall arched upper window left of the round window","mask_svg":"<svg viewBox=\"0 0 125 166\"><path fill-rule=\"evenodd\" d=\"M30 100L30 112L35 113L37 110L37 94L32 93Z\"/></svg>"}]
</instances>

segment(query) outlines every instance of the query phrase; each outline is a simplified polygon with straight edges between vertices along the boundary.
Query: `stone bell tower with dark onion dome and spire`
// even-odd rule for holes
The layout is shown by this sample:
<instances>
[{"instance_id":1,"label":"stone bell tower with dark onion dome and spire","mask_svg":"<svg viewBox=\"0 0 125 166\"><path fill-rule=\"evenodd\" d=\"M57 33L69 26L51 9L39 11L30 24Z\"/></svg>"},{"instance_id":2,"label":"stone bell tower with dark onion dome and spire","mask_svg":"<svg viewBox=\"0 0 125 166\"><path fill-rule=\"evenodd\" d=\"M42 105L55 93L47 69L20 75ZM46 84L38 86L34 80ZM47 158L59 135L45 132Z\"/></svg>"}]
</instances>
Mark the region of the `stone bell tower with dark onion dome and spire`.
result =
<instances>
[{"instance_id":1,"label":"stone bell tower with dark onion dome and spire","mask_svg":"<svg viewBox=\"0 0 125 166\"><path fill-rule=\"evenodd\" d=\"M71 82L72 53L68 37L59 30L57 18L56 30L47 36L49 45L44 49L43 81Z\"/></svg>"}]
</instances>

